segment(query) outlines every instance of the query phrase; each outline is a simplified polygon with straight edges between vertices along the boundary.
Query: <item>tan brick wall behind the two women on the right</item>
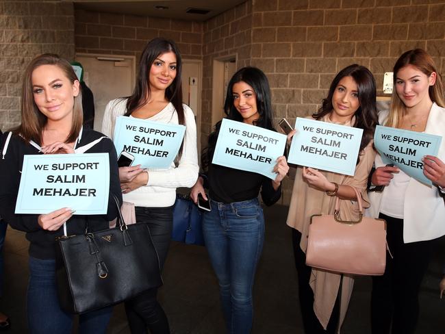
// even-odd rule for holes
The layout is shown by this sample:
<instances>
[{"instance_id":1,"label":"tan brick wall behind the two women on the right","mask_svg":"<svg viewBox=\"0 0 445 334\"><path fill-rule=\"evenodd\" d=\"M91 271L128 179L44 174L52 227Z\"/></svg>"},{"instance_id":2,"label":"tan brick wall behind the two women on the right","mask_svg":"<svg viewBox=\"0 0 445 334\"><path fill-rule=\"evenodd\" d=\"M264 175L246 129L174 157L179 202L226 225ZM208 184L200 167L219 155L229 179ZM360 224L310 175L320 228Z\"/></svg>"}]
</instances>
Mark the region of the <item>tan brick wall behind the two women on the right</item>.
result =
<instances>
[{"instance_id":1,"label":"tan brick wall behind the two women on the right","mask_svg":"<svg viewBox=\"0 0 445 334\"><path fill-rule=\"evenodd\" d=\"M370 68L378 94L383 73L421 47L445 72L445 1L254 0L251 64L270 80L277 119L312 114L339 70ZM288 203L287 181L282 201Z\"/></svg>"}]
</instances>

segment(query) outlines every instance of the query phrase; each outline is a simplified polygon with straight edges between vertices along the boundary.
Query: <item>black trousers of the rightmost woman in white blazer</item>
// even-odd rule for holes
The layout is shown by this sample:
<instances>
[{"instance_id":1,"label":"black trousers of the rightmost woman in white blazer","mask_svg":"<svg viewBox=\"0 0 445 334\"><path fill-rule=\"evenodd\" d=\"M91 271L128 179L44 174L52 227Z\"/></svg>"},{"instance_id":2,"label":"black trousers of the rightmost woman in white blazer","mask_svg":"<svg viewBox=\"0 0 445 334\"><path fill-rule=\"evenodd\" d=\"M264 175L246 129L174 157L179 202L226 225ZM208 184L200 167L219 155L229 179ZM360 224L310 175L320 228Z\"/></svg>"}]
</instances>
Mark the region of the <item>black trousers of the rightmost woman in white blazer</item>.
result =
<instances>
[{"instance_id":1,"label":"black trousers of the rightmost woman in white blazer","mask_svg":"<svg viewBox=\"0 0 445 334\"><path fill-rule=\"evenodd\" d=\"M379 218L387 222L386 240L394 258L387 253L385 273L372 277L372 333L411 334L418 320L420 284L435 240L405 244L403 219L384 214Z\"/></svg>"}]
</instances>

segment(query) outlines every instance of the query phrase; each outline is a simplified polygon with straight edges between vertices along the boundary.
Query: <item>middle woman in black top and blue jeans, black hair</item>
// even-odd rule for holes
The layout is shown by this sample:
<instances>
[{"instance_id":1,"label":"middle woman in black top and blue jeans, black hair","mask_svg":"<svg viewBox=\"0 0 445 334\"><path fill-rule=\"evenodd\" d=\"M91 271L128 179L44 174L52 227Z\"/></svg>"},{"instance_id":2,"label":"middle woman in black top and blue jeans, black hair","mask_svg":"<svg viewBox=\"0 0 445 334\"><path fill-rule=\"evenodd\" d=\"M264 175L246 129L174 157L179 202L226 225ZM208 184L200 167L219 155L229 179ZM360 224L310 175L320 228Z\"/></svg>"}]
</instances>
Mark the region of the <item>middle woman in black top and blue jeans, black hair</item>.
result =
<instances>
[{"instance_id":1,"label":"middle woman in black top and blue jeans, black hair","mask_svg":"<svg viewBox=\"0 0 445 334\"><path fill-rule=\"evenodd\" d=\"M229 120L275 130L269 84L261 70L246 67L233 75L227 87L225 113ZM220 125L216 124L203 154L206 186L212 198L212 211L204 214L203 233L220 285L227 332L250 333L253 280L264 242L264 216L257 196L261 190L266 205L277 202L289 167L285 157L279 157L274 167L277 177L271 180L255 172L211 164ZM198 194L207 199L203 185L204 179L199 177L191 191L195 202Z\"/></svg>"}]
</instances>

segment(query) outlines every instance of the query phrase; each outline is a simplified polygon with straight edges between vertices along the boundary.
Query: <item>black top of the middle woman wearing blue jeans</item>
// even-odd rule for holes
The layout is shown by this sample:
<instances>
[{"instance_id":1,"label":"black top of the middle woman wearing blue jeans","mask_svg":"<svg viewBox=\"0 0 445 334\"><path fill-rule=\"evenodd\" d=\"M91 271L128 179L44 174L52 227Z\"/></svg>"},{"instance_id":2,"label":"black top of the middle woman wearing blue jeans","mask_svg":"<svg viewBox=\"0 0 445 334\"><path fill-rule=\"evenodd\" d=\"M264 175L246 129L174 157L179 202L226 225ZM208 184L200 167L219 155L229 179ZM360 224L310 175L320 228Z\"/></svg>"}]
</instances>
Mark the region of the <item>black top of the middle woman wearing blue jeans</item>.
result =
<instances>
[{"instance_id":1,"label":"black top of the middle woman wearing blue jeans","mask_svg":"<svg viewBox=\"0 0 445 334\"><path fill-rule=\"evenodd\" d=\"M272 180L264 175L215 164L209 166L205 185L210 198L221 203L248 201L256 198L260 189L266 205L274 204L281 196L281 185L275 190Z\"/></svg>"}]
</instances>

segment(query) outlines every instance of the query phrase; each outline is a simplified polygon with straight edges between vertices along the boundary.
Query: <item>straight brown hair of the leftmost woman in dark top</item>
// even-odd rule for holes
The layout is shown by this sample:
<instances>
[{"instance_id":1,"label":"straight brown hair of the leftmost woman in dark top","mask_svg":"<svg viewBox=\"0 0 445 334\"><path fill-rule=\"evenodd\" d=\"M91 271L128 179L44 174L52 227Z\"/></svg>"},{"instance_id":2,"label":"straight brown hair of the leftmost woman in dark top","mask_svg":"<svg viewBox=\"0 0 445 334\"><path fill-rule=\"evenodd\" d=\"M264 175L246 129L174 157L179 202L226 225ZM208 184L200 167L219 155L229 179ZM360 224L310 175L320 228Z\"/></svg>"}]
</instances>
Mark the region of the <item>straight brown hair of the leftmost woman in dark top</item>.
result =
<instances>
[{"instance_id":1,"label":"straight brown hair of the leftmost woman in dark top","mask_svg":"<svg viewBox=\"0 0 445 334\"><path fill-rule=\"evenodd\" d=\"M38 144L42 144L42 133L44 126L47 124L47 116L44 116L38 109L36 102L34 102L34 93L32 89L32 73L36 68L42 65L55 65L58 66L66 75L71 84L78 81L77 76L73 70L73 67L69 62L60 58L53 53L44 53L38 55L28 64L25 75L23 77L22 86L22 102L21 102L21 124L16 127L13 132L16 135L20 135L25 142L34 140ZM84 122L84 116L82 111L82 94L79 86L79 94L74 97L73 105L73 125L71 125L71 131L66 139L66 142L74 142L79 136L79 131Z\"/></svg>"}]
</instances>

